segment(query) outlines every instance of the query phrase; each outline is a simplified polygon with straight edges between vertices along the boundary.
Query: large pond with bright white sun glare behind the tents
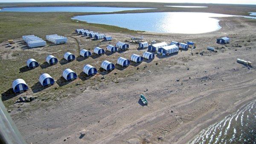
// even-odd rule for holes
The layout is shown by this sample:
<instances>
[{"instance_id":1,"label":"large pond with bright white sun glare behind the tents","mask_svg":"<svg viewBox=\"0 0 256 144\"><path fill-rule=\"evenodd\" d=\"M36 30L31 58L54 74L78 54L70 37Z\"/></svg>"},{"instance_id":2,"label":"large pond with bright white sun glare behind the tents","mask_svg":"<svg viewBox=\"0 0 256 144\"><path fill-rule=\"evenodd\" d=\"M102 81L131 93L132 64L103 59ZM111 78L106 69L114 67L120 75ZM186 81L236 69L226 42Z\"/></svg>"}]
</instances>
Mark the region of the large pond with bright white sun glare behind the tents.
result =
<instances>
[{"instance_id":1,"label":"large pond with bright white sun glare behind the tents","mask_svg":"<svg viewBox=\"0 0 256 144\"><path fill-rule=\"evenodd\" d=\"M219 20L210 17L230 16L201 12L154 12L84 15L76 16L72 19L146 32L198 34L212 32L221 28L218 24Z\"/></svg>"}]
</instances>

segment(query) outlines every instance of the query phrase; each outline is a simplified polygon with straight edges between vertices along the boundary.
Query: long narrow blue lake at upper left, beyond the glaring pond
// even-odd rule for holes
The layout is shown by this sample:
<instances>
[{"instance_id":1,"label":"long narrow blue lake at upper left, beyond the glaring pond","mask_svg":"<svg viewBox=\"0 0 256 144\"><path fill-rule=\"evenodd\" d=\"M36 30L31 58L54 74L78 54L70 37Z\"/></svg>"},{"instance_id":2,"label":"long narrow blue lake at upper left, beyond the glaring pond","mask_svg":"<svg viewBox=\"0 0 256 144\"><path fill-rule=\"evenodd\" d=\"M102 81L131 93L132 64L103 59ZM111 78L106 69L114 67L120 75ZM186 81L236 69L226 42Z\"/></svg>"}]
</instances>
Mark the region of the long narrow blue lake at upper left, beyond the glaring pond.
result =
<instances>
[{"instance_id":1,"label":"long narrow blue lake at upper left, beyond the glaring pond","mask_svg":"<svg viewBox=\"0 0 256 144\"><path fill-rule=\"evenodd\" d=\"M150 9L150 8L55 6L55 7L3 8L0 10L0 12L119 12L119 11L138 10L138 9Z\"/></svg>"}]
</instances>

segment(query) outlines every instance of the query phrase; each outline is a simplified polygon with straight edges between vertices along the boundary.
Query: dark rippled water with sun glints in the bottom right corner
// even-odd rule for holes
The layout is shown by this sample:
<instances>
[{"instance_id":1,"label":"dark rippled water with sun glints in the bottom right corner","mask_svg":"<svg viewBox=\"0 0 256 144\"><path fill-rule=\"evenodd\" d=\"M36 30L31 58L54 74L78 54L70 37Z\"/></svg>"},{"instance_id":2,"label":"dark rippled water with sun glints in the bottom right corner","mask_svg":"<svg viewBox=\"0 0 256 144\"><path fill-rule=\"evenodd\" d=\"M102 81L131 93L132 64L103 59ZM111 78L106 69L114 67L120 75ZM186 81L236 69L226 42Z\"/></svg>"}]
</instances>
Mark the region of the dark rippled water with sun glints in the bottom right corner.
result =
<instances>
[{"instance_id":1,"label":"dark rippled water with sun glints in the bottom right corner","mask_svg":"<svg viewBox=\"0 0 256 144\"><path fill-rule=\"evenodd\" d=\"M256 144L256 100L202 130L190 144Z\"/></svg>"}]
</instances>

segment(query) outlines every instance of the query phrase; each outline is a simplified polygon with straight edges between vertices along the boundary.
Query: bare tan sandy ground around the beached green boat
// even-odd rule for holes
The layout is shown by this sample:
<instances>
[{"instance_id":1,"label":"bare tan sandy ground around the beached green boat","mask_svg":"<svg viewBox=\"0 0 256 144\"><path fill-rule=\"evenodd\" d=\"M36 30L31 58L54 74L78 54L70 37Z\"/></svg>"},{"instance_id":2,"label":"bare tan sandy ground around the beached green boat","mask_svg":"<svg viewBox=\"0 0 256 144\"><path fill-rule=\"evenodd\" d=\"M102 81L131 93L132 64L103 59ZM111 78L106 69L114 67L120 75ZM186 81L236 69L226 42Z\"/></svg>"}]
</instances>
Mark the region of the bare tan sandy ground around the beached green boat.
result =
<instances>
[{"instance_id":1,"label":"bare tan sandy ground around the beached green boat","mask_svg":"<svg viewBox=\"0 0 256 144\"><path fill-rule=\"evenodd\" d=\"M193 40L197 47L193 55L190 50L179 51L177 55L156 56L152 61L115 69L99 85L74 87L82 92L70 92L58 101L33 101L36 108L20 105L21 111L14 109L10 113L12 119L26 142L33 144L186 143L209 124L256 98L255 20L218 19L222 29L215 32L134 35L143 35L147 41ZM121 33L108 34L116 40L128 39ZM85 43L80 36L70 36ZM222 36L229 36L230 44L216 44L215 39ZM218 47L218 52L208 51L207 46ZM131 45L122 55L129 57L144 51ZM236 63L237 58L253 65ZM126 70L132 74L122 76ZM114 72L119 75L115 80L118 83L106 84L104 81ZM148 106L139 104L140 94L146 96Z\"/></svg>"}]
</instances>

